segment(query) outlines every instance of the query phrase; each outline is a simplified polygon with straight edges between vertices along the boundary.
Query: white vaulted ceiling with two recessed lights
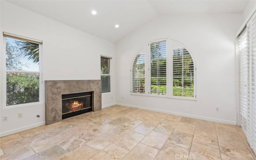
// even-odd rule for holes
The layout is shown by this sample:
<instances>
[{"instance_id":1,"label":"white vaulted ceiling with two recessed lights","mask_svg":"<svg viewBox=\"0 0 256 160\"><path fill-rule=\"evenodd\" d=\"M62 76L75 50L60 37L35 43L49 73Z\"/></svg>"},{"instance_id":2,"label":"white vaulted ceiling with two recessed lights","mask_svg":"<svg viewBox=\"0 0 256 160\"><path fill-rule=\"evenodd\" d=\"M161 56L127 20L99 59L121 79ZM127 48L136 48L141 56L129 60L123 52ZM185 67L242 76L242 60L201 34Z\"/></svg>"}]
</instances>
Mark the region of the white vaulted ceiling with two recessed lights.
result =
<instances>
[{"instance_id":1,"label":"white vaulted ceiling with two recessed lights","mask_svg":"<svg viewBox=\"0 0 256 160\"><path fill-rule=\"evenodd\" d=\"M159 14L242 13L248 3L247 0L9 2L114 43ZM92 10L97 14L92 15ZM115 28L116 24L120 27Z\"/></svg>"}]
</instances>

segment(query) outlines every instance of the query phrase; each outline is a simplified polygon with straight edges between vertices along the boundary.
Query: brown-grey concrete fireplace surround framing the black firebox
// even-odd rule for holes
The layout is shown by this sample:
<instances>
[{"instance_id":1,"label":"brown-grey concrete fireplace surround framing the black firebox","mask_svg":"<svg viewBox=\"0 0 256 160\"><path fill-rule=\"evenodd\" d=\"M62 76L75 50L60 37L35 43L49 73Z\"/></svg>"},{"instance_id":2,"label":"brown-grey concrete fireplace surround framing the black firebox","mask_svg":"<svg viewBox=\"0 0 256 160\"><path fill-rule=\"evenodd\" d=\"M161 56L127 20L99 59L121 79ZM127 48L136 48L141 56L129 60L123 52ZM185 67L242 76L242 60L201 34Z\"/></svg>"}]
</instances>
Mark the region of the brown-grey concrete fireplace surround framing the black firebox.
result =
<instances>
[{"instance_id":1,"label":"brown-grey concrete fireplace surround framing the black firebox","mask_svg":"<svg viewBox=\"0 0 256 160\"><path fill-rule=\"evenodd\" d=\"M92 111L101 109L101 80L45 81L45 124L62 120L62 94L92 92Z\"/></svg>"}]
</instances>

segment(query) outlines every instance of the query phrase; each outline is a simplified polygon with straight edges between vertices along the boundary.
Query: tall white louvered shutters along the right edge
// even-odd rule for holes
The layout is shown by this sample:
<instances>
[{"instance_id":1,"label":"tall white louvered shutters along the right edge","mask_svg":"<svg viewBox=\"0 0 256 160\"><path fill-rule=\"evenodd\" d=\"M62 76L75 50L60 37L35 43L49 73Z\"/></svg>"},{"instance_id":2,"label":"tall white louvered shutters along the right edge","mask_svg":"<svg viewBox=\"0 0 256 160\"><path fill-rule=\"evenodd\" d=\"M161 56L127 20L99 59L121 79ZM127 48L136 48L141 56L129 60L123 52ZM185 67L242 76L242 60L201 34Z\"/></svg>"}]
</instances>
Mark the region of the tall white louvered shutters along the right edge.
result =
<instances>
[{"instance_id":1,"label":"tall white louvered shutters along the right edge","mask_svg":"<svg viewBox=\"0 0 256 160\"><path fill-rule=\"evenodd\" d=\"M241 127L252 150L256 152L256 19L255 15L238 37L239 106Z\"/></svg>"}]
</instances>

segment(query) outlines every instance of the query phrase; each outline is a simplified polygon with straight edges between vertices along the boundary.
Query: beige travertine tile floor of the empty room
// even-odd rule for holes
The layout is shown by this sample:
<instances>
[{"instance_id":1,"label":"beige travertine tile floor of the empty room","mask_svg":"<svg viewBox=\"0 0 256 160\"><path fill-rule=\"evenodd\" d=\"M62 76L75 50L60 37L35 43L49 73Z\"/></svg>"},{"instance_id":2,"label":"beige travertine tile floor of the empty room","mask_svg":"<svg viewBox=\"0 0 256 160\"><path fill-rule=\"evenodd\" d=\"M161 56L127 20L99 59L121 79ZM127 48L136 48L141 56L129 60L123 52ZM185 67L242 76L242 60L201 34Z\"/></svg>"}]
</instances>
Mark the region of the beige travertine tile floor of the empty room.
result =
<instances>
[{"instance_id":1,"label":"beige travertine tile floor of the empty room","mask_svg":"<svg viewBox=\"0 0 256 160\"><path fill-rule=\"evenodd\" d=\"M254 159L241 127L111 106L0 138L0 159Z\"/></svg>"}]
</instances>

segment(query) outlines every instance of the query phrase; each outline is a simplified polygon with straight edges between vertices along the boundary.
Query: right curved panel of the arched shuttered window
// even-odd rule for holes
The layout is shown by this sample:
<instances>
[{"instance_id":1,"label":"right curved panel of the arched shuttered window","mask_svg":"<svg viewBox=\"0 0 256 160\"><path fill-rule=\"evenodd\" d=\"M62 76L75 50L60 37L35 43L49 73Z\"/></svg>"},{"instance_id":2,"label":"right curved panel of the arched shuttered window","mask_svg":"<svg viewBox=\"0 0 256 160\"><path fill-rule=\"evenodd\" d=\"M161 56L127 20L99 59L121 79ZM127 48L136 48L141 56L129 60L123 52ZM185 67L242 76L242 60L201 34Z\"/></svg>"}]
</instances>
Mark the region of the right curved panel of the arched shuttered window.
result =
<instances>
[{"instance_id":1,"label":"right curved panel of the arched shuttered window","mask_svg":"<svg viewBox=\"0 0 256 160\"><path fill-rule=\"evenodd\" d=\"M194 97L194 62L183 44L172 41L172 95Z\"/></svg>"}]
</instances>

